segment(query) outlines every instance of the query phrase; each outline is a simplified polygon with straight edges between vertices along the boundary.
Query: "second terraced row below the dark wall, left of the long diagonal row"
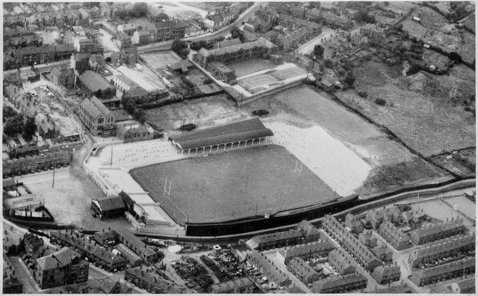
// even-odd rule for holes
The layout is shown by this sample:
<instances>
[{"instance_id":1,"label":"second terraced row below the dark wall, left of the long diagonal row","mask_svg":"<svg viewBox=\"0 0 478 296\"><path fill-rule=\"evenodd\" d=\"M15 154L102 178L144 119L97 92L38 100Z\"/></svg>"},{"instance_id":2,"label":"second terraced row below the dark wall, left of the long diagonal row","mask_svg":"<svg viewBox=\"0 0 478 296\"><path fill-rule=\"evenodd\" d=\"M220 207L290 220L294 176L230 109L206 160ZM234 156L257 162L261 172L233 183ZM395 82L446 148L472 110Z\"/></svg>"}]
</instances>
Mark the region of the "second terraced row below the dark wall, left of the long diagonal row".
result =
<instances>
[{"instance_id":1,"label":"second terraced row below the dark wall, left of the long diagonal row","mask_svg":"<svg viewBox=\"0 0 478 296\"><path fill-rule=\"evenodd\" d=\"M335 245L328 239L286 247L283 250L277 251L275 254L275 262L287 265L290 260L296 257L304 260L308 260L312 257L327 257L329 252L335 248Z\"/></svg>"}]
</instances>

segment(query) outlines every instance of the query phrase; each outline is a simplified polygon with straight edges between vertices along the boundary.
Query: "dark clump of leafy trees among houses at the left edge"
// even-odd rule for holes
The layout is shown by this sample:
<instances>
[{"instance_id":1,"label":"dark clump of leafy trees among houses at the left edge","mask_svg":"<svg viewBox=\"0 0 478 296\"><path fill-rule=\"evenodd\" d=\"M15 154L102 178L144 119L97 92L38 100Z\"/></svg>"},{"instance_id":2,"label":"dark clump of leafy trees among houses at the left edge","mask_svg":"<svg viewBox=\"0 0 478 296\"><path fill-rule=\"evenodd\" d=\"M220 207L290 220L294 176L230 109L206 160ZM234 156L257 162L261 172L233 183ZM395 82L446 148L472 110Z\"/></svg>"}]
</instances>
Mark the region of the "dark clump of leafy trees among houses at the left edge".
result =
<instances>
[{"instance_id":1,"label":"dark clump of leafy trees among houses at the left edge","mask_svg":"<svg viewBox=\"0 0 478 296\"><path fill-rule=\"evenodd\" d=\"M10 106L3 106L3 132L13 137L16 134L21 134L27 141L31 141L37 132L37 124L34 117L24 117L18 114Z\"/></svg>"}]
</instances>

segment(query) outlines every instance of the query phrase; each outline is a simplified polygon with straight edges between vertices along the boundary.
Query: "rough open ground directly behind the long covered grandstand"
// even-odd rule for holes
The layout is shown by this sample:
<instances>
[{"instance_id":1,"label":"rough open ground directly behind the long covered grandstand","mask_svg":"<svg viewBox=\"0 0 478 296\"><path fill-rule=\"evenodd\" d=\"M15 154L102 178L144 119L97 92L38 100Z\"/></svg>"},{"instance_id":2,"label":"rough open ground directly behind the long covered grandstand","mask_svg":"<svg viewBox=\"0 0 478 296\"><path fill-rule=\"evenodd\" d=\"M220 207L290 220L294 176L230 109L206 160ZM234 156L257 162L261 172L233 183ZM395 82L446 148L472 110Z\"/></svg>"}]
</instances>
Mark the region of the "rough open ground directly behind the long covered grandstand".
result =
<instances>
[{"instance_id":1,"label":"rough open ground directly behind the long covered grandstand","mask_svg":"<svg viewBox=\"0 0 478 296\"><path fill-rule=\"evenodd\" d=\"M195 123L198 128L205 128L251 117L250 113L238 110L226 95L183 101L145 111L149 124L170 134L179 133L179 127L184 123Z\"/></svg>"}]
</instances>

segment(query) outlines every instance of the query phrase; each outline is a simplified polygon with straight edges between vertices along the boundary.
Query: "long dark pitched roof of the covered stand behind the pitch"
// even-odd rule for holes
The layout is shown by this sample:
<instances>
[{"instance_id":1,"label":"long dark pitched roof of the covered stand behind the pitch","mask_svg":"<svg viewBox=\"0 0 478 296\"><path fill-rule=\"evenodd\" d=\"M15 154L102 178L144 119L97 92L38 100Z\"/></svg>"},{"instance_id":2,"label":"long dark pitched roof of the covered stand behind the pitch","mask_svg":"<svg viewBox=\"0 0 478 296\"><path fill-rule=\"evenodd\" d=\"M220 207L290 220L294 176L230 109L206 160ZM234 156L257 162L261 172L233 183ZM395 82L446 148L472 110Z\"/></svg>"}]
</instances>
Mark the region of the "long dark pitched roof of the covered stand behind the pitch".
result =
<instances>
[{"instance_id":1,"label":"long dark pitched roof of the covered stand behind the pitch","mask_svg":"<svg viewBox=\"0 0 478 296\"><path fill-rule=\"evenodd\" d=\"M171 139L179 148L187 150L273 135L272 130L265 127L259 118L254 118L185 135L171 136Z\"/></svg>"}]
</instances>

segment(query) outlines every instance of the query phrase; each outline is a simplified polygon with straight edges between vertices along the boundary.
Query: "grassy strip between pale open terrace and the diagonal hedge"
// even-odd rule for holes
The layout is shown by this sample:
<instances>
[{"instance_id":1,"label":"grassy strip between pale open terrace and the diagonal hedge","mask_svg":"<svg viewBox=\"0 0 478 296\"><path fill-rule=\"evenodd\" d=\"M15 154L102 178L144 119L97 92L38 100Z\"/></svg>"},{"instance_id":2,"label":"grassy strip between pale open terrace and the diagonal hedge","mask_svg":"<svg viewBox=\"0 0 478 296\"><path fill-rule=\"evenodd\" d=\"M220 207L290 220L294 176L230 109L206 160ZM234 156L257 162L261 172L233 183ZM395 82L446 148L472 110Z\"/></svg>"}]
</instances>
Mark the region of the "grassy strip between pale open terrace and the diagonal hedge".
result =
<instances>
[{"instance_id":1,"label":"grassy strip between pale open terrace and the diagonal hedge","mask_svg":"<svg viewBox=\"0 0 478 296\"><path fill-rule=\"evenodd\" d=\"M267 109L270 119L297 126L319 124L331 136L372 166L372 172L359 191L363 196L398 186L443 181L450 176L417 158L401 144L363 118L307 86L285 90L247 105L249 110ZM387 173L388 175L384 175ZM393 176L389 178L388 176Z\"/></svg>"}]
</instances>

